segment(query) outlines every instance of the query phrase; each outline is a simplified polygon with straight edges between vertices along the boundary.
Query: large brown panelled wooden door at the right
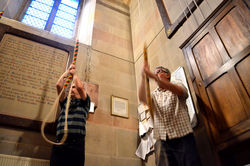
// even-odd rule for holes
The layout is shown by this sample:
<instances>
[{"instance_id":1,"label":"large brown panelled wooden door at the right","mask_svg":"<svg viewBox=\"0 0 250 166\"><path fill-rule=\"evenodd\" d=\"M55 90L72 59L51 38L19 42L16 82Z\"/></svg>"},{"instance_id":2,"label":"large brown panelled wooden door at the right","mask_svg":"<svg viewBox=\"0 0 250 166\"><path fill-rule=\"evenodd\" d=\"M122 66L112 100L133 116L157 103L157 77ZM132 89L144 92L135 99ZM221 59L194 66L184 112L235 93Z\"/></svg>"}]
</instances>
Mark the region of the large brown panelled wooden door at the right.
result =
<instances>
[{"instance_id":1,"label":"large brown panelled wooden door at the right","mask_svg":"<svg viewBox=\"0 0 250 166\"><path fill-rule=\"evenodd\" d=\"M183 48L216 150L250 139L250 12L226 5Z\"/></svg>"}]
</instances>

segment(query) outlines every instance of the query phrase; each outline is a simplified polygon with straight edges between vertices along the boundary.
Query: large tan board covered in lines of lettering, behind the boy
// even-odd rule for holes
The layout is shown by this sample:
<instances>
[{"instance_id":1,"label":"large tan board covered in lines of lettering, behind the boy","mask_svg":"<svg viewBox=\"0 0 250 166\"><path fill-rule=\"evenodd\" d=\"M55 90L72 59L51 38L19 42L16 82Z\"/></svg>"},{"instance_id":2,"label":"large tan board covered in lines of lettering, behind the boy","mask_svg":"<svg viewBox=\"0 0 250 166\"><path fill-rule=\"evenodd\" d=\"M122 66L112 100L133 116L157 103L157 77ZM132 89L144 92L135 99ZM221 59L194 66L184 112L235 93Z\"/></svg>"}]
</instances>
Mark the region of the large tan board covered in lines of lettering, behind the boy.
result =
<instances>
[{"instance_id":1,"label":"large tan board covered in lines of lettering, behind the boy","mask_svg":"<svg viewBox=\"0 0 250 166\"><path fill-rule=\"evenodd\" d=\"M5 34L0 43L0 114L42 121L57 97L55 85L67 60L67 51Z\"/></svg>"}]
</instances>

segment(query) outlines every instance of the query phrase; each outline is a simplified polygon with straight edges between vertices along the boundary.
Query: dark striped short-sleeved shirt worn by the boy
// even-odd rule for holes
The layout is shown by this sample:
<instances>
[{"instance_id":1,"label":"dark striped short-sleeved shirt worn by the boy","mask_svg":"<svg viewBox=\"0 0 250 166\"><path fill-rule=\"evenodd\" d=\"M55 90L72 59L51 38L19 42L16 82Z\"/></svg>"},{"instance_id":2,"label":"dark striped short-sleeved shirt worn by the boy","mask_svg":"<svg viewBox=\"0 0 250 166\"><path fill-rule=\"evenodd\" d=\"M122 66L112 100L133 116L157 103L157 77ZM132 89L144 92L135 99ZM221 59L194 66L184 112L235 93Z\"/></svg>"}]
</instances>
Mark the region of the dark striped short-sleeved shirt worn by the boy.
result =
<instances>
[{"instance_id":1,"label":"dark striped short-sleeved shirt worn by the boy","mask_svg":"<svg viewBox=\"0 0 250 166\"><path fill-rule=\"evenodd\" d=\"M60 138L64 134L65 108L67 98L60 102L61 112L58 118L56 137ZM86 119L90 109L90 98L87 95L85 100L71 99L68 112L68 135L86 135Z\"/></svg>"}]
</instances>

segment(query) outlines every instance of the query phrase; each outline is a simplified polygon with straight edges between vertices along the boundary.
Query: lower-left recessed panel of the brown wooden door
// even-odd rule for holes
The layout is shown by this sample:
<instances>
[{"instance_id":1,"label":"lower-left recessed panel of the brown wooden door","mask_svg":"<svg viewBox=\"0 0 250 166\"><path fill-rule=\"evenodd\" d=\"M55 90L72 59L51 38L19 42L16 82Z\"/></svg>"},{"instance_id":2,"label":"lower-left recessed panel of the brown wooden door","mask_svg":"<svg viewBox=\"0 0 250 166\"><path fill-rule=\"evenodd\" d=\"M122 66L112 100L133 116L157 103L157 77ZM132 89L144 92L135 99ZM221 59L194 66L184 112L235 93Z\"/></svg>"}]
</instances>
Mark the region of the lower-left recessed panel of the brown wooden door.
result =
<instances>
[{"instance_id":1,"label":"lower-left recessed panel of the brown wooden door","mask_svg":"<svg viewBox=\"0 0 250 166\"><path fill-rule=\"evenodd\" d=\"M207 88L207 92L213 111L216 114L219 132L246 119L240 95L237 93L228 73L214 81Z\"/></svg>"}]
</instances>

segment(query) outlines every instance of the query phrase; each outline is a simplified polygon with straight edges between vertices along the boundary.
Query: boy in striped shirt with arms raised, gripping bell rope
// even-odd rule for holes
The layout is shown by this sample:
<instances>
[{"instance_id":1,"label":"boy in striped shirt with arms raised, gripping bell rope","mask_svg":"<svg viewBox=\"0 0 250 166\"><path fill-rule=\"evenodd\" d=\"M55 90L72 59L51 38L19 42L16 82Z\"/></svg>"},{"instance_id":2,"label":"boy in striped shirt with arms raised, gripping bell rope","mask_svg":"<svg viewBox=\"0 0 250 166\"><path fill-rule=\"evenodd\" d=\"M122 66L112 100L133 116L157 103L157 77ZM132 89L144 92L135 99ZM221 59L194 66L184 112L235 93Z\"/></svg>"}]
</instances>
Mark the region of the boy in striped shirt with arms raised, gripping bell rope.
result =
<instances>
[{"instance_id":1,"label":"boy in striped shirt with arms raised, gripping bell rope","mask_svg":"<svg viewBox=\"0 0 250 166\"><path fill-rule=\"evenodd\" d=\"M85 161L85 135L86 119L90 109L90 98L84 88L84 84L76 74L76 67L72 64L69 69L58 79L56 88L59 94L69 74L74 76L71 101L68 112L68 137L63 145L54 145L51 153L51 166L84 166ZM58 118L56 139L58 142L64 135L65 107L67 97L62 92L60 98L61 112Z\"/></svg>"}]
</instances>

